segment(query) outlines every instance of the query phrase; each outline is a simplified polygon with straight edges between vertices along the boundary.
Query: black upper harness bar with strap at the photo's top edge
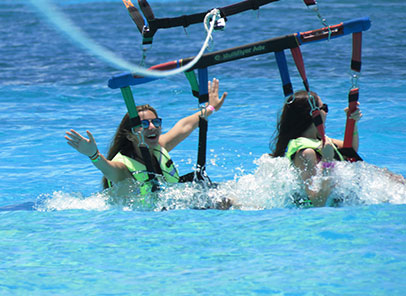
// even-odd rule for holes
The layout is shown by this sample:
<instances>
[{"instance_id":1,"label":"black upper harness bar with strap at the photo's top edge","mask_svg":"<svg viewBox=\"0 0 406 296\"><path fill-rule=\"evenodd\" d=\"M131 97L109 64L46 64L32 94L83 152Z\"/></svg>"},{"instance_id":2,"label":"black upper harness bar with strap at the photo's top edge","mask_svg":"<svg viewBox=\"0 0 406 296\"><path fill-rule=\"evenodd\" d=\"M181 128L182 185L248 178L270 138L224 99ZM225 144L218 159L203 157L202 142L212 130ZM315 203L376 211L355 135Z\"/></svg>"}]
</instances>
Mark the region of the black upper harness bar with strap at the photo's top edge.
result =
<instances>
[{"instance_id":1,"label":"black upper harness bar with strap at the photo's top edge","mask_svg":"<svg viewBox=\"0 0 406 296\"><path fill-rule=\"evenodd\" d=\"M218 9L220 10L221 17L227 20L227 16L250 9L257 10L260 6L276 1L279 0L246 0ZM158 29L167 29L181 26L186 28L189 25L201 23L203 22L206 14L210 11L209 10L201 13L182 15L172 18L156 18L149 3L146 0L138 0L140 9L147 20L147 24L144 24L144 20L142 20L142 22L140 21L140 19L142 18L140 12L134 7L131 1L123 0L123 2L126 5L131 18L137 25L138 30L142 34L143 44L151 44L152 38L154 37Z\"/></svg>"}]
</instances>

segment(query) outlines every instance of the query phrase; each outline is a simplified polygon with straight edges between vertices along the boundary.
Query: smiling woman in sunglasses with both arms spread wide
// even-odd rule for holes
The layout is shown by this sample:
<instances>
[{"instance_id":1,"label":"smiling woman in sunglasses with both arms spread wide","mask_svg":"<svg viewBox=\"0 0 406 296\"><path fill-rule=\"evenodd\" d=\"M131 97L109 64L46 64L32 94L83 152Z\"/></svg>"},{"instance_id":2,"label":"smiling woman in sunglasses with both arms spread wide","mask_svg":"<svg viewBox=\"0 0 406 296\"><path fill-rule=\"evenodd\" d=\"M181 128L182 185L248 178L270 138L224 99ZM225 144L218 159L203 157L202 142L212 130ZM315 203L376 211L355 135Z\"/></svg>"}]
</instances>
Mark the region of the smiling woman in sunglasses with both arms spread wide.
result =
<instances>
[{"instance_id":1,"label":"smiling woman in sunglasses with both arms spread wide","mask_svg":"<svg viewBox=\"0 0 406 296\"><path fill-rule=\"evenodd\" d=\"M199 124L203 114L210 116L218 111L224 103L227 93L219 99L219 81L213 79L208 83L209 103L204 112L198 111L179 120L167 133L161 134L162 119L150 105L137 106L141 119L141 128L131 129L128 113L122 119L112 140L107 157L97 148L96 141L90 131L86 131L88 138L71 129L66 132L68 144L78 152L90 158L94 166L104 175L104 188L111 187L117 182L132 179L140 182L140 194L147 194L154 187L154 180L146 168L141 146L148 147L154 174L169 183L177 183L179 175L168 152L186 139Z\"/></svg>"}]
</instances>

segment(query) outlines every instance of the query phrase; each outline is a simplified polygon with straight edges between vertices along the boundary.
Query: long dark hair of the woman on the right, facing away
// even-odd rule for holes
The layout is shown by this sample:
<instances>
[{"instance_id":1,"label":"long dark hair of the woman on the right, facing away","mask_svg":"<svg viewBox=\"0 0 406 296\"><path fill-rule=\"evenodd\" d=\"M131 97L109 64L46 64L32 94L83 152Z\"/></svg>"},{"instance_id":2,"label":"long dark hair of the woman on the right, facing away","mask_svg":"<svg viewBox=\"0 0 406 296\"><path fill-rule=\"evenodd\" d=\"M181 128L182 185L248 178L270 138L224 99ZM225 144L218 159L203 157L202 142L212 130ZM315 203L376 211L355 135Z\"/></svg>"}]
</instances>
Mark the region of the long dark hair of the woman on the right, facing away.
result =
<instances>
[{"instance_id":1,"label":"long dark hair of the woman on the right, facing away","mask_svg":"<svg viewBox=\"0 0 406 296\"><path fill-rule=\"evenodd\" d=\"M320 100L315 92L310 93L316 102ZM271 142L271 150L274 147L271 153L273 157L284 156L289 141L299 138L313 123L308 98L307 91L301 90L286 100L276 125L275 136Z\"/></svg>"}]
</instances>

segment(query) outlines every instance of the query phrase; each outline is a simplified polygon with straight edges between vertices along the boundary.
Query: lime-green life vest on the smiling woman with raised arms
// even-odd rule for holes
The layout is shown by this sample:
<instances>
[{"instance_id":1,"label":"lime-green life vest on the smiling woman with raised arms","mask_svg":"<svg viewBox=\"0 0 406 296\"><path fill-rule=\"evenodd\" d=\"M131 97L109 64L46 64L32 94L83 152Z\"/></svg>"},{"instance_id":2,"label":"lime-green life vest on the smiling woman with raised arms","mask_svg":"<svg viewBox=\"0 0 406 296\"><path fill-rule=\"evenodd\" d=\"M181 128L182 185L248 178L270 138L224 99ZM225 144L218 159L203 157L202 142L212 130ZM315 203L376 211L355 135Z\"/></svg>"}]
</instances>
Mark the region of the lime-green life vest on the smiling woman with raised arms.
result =
<instances>
[{"instance_id":1,"label":"lime-green life vest on the smiling woman with raised arms","mask_svg":"<svg viewBox=\"0 0 406 296\"><path fill-rule=\"evenodd\" d=\"M163 178L168 183L178 183L179 182L179 174L178 170L176 169L172 159L170 158L168 151L165 148L160 147L160 149L154 149L154 156L158 160L159 166L162 170ZM149 180L148 171L146 166L128 156L121 154L120 152L114 156L112 161L119 161L122 162L134 179L138 182L141 182L140 193L141 195L145 195L151 192L152 188L152 181ZM108 181L109 187L112 186L110 180Z\"/></svg>"}]
</instances>

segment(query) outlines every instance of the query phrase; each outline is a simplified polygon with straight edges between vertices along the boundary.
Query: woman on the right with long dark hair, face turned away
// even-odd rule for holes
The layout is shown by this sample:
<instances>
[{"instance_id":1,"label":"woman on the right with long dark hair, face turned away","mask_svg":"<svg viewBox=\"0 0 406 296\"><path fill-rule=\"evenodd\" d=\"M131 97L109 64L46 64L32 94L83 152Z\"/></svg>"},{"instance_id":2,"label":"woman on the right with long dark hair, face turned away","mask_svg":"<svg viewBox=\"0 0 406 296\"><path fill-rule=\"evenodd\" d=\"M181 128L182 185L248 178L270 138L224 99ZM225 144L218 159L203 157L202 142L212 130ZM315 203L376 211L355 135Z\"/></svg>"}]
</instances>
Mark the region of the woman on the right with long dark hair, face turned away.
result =
<instances>
[{"instance_id":1,"label":"woman on the right with long dark hair, face turned away","mask_svg":"<svg viewBox=\"0 0 406 296\"><path fill-rule=\"evenodd\" d=\"M283 106L277 123L276 136L273 141L273 157L288 157L298 168L305 185L308 203L313 206L324 206L332 190L332 181L323 178L321 186L314 186L314 176L318 173L328 174L335 160L345 160L339 152L343 141L325 136L323 141L319 130L313 123L311 105L320 109L322 124L327 119L328 106L320 97L307 91L298 91L291 95ZM348 108L345 109L348 112ZM357 108L350 118L358 122L362 117ZM358 150L358 130L355 125L352 147Z\"/></svg>"}]
</instances>

